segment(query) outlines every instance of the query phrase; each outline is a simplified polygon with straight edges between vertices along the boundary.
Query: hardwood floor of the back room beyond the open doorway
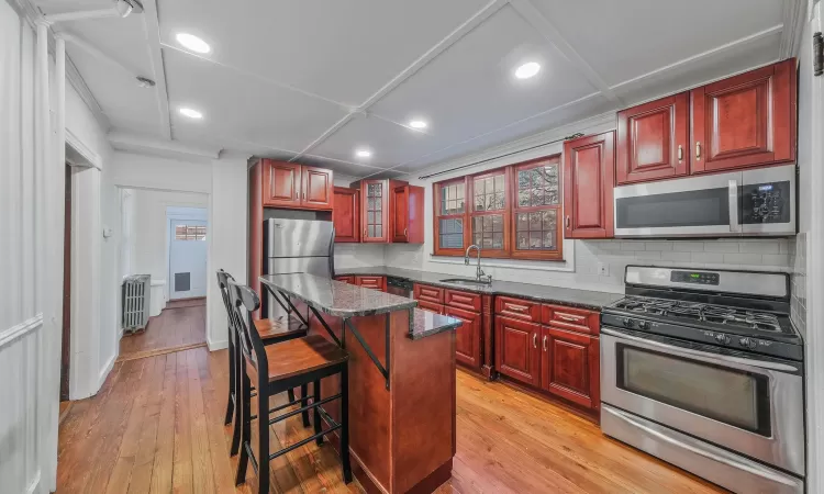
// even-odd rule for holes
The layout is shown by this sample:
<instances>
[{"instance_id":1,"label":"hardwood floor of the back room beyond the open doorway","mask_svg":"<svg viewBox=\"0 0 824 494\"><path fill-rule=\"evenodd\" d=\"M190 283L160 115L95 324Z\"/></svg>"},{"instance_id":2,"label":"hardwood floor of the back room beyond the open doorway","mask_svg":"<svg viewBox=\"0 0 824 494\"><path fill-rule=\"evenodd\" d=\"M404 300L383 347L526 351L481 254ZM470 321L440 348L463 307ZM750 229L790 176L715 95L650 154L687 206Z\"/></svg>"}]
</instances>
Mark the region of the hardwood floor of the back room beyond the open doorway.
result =
<instances>
[{"instance_id":1,"label":"hardwood floor of the back room beyond the open doorway","mask_svg":"<svg viewBox=\"0 0 824 494\"><path fill-rule=\"evenodd\" d=\"M205 346L205 299L170 301L146 330L120 340L118 361Z\"/></svg>"}]
</instances>

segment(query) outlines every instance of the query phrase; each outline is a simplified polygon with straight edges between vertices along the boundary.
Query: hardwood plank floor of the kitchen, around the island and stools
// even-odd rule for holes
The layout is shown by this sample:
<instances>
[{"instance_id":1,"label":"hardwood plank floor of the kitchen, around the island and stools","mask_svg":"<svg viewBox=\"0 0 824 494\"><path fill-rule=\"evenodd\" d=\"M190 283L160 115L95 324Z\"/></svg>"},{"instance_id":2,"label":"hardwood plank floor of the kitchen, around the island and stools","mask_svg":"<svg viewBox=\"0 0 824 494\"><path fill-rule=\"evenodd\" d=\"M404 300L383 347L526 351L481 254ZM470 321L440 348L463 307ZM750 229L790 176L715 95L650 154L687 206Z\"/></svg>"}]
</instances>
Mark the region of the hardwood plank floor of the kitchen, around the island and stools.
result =
<instances>
[{"instance_id":1,"label":"hardwood plank floor of the kitchen, around the island and stools","mask_svg":"<svg viewBox=\"0 0 824 494\"><path fill-rule=\"evenodd\" d=\"M254 492L250 468L247 483L234 487L231 428L222 425L226 368L226 350L205 348L118 362L103 389L74 402L60 425L57 492ZM300 416L272 430L272 449L311 434ZM457 434L442 494L723 492L608 439L584 418L464 371ZM276 492L363 492L357 482L343 484L327 445L281 457L270 475Z\"/></svg>"}]
</instances>

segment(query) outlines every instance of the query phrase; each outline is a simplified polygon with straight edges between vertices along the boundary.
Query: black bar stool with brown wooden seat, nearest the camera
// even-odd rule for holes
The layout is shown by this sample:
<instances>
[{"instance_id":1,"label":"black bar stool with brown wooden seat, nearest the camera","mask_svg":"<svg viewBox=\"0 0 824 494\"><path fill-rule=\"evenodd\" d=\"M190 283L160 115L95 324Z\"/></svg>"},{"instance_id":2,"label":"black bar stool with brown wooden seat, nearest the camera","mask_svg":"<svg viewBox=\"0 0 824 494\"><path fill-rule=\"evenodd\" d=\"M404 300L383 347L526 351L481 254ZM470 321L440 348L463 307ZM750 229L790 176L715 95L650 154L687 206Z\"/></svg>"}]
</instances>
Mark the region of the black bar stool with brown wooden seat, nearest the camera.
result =
<instances>
[{"instance_id":1,"label":"black bar stool with brown wooden seat, nearest the camera","mask_svg":"<svg viewBox=\"0 0 824 494\"><path fill-rule=\"evenodd\" d=\"M229 281L229 292L233 307L236 307L238 340L242 349L244 370L241 372L241 411L242 411L242 448L241 458L237 461L237 476L235 482L241 485L246 481L246 468L252 460L252 467L258 479L258 492L269 492L269 461L288 453L311 441L319 445L323 442L323 436L335 430L341 430L341 463L343 465L344 482L352 482L352 464L349 462L349 393L348 393L348 360L349 356L337 345L327 341L319 335L304 338L290 339L279 345L264 346L257 332L249 330L249 326L241 315L243 310L247 313L256 311L260 306L257 294L249 289ZM338 394L320 398L321 379L330 375L341 375L341 392ZM252 381L257 388L257 415L252 415ZM301 386L305 389L313 383L314 396L310 405L283 413L269 418L270 414L286 408L294 403L276 406L269 409L269 397L282 393L289 389ZM339 398L341 423L336 423L321 406L324 403ZM269 453L269 426L294 416L299 413L314 413L314 434L287 448ZM258 445L257 458L252 445L252 420L257 419ZM321 419L329 426L323 429ZM305 420L304 420L305 425Z\"/></svg>"}]
</instances>

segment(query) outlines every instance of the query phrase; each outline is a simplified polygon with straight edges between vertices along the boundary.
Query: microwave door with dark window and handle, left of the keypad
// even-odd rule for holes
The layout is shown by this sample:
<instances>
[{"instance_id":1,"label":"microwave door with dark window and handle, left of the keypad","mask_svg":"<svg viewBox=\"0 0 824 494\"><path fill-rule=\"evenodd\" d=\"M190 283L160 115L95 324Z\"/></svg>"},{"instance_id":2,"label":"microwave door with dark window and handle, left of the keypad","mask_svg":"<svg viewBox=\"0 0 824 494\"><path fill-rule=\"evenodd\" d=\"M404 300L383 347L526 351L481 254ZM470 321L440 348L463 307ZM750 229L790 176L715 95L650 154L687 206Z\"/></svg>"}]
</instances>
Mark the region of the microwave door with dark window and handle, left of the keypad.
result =
<instances>
[{"instance_id":1,"label":"microwave door with dark window and handle, left of the keypad","mask_svg":"<svg viewBox=\"0 0 824 494\"><path fill-rule=\"evenodd\" d=\"M616 187L616 237L739 236L742 173Z\"/></svg>"}]
</instances>

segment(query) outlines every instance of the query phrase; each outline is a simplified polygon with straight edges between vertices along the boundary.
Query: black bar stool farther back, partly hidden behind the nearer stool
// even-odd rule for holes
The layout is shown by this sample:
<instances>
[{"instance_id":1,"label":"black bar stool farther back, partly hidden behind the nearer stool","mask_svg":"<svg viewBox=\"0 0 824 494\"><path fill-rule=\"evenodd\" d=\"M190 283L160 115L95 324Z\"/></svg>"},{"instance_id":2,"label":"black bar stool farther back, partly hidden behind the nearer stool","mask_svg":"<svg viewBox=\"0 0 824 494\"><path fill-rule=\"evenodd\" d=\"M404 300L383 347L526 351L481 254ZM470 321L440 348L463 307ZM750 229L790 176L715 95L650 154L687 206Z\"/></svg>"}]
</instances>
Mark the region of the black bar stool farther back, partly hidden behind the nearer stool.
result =
<instances>
[{"instance_id":1,"label":"black bar stool farther back, partly hidden behind the nearer stool","mask_svg":"<svg viewBox=\"0 0 824 494\"><path fill-rule=\"evenodd\" d=\"M221 295L223 296L223 305L226 307L226 321L229 326L229 398L226 401L226 417L224 425L229 425L234 416L235 424L232 433L232 448L230 449L230 453L234 457L241 449L241 407L236 390L240 388L241 383L241 372L243 372L241 363L243 362L243 358L238 345L240 329L236 321L237 311L232 308L232 302L229 294L230 281L235 281L232 274L222 269L218 270L218 284L220 285ZM294 338L302 338L307 336L307 332L309 330L309 328L307 328L307 326L300 321L291 317L258 319L255 321L254 324L264 345L274 345ZM287 391L289 393L289 402L296 402L294 391L291 388ZM310 396L308 396L307 391L307 385L301 386L301 398L298 401L301 406L305 406L309 403ZM309 427L309 412L304 412L302 415L303 426Z\"/></svg>"}]
</instances>

